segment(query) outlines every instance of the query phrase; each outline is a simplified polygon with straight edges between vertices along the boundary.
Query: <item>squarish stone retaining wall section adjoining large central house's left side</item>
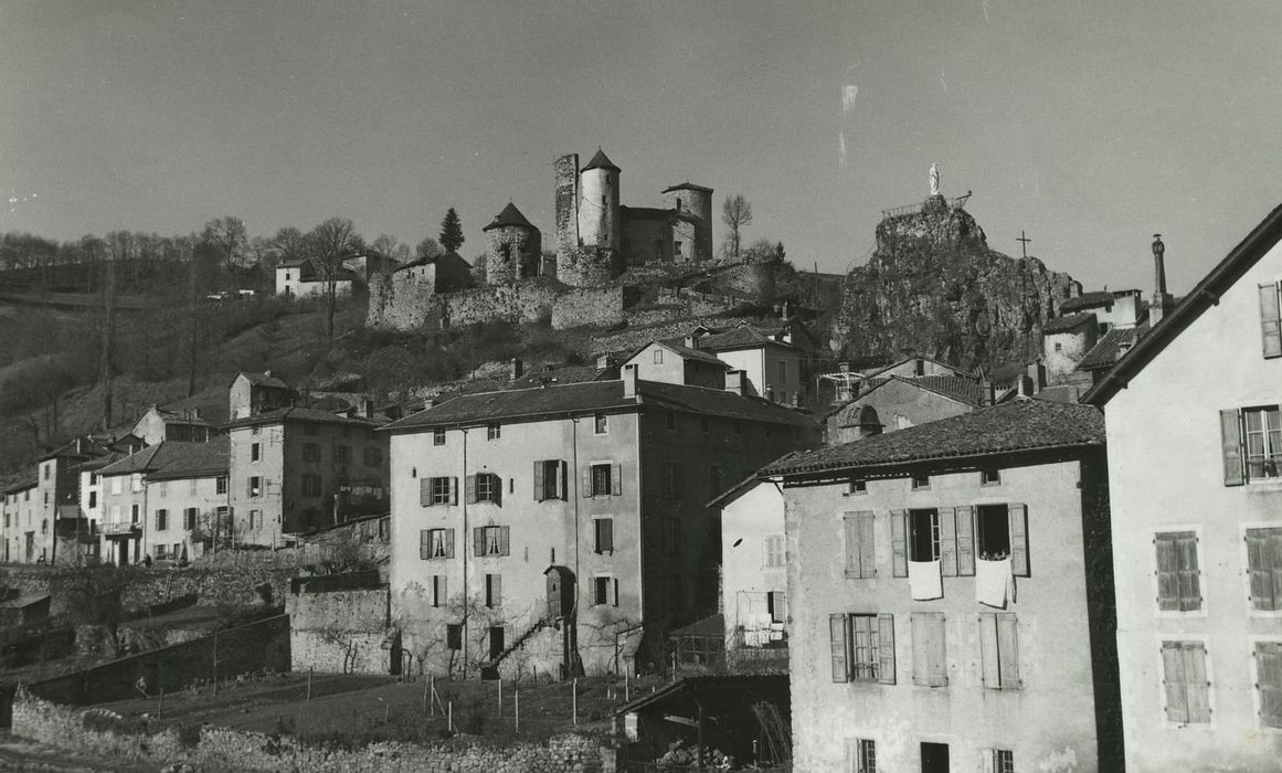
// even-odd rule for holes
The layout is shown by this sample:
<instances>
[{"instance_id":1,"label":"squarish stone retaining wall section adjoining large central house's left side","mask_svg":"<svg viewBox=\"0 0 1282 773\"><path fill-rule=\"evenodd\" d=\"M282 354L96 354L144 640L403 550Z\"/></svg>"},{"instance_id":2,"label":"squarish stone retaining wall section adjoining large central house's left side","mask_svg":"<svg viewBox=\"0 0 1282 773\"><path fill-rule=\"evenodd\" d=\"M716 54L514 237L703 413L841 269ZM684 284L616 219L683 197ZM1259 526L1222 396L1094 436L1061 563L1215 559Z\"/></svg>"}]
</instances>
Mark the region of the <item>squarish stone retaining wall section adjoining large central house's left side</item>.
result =
<instances>
[{"instance_id":1,"label":"squarish stone retaining wall section adjoining large central house's left side","mask_svg":"<svg viewBox=\"0 0 1282 773\"><path fill-rule=\"evenodd\" d=\"M387 588L295 594L285 610L294 670L388 673Z\"/></svg>"}]
</instances>

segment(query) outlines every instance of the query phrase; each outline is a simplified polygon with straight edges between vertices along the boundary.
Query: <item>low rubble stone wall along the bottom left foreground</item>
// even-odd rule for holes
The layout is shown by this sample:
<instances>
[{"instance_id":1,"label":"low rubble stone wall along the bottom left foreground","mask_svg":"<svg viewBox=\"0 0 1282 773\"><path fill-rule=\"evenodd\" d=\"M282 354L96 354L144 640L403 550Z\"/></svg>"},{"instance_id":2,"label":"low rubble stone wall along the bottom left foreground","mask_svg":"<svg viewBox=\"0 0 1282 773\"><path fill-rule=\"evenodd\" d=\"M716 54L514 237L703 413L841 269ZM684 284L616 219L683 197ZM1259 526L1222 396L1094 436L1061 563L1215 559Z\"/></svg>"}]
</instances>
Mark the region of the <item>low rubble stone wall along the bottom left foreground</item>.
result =
<instances>
[{"instance_id":1,"label":"low rubble stone wall along the bottom left foreground","mask_svg":"<svg viewBox=\"0 0 1282 773\"><path fill-rule=\"evenodd\" d=\"M578 735L545 744L472 746L414 746L370 744L365 749L322 749L292 737L205 726L153 727L154 732L95 729L112 718L86 720L94 709L58 705L19 690L13 705L13 733L68 751L156 765L183 763L197 770L309 770L313 773L613 773L614 750Z\"/></svg>"}]
</instances>

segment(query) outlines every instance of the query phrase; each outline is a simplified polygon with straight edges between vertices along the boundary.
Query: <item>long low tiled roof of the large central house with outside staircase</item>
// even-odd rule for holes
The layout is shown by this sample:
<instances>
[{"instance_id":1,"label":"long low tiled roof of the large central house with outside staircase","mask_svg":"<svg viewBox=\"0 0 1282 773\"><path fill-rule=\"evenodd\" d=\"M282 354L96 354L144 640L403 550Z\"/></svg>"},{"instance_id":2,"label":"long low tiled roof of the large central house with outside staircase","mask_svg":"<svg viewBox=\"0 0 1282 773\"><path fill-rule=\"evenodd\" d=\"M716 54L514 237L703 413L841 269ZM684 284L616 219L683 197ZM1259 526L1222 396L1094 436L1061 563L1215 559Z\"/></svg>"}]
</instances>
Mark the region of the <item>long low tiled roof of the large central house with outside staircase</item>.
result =
<instances>
[{"instance_id":1,"label":"long low tiled roof of the large central house with outside staircase","mask_svg":"<svg viewBox=\"0 0 1282 773\"><path fill-rule=\"evenodd\" d=\"M719 360L718 360L719 362ZM740 396L659 381L637 381L637 397L623 396L623 381L588 381L531 390L463 395L387 424L385 429L419 429L496 420L536 419L549 415L636 409L641 404L683 413L750 422L818 427L805 415L760 397Z\"/></svg>"}]
</instances>

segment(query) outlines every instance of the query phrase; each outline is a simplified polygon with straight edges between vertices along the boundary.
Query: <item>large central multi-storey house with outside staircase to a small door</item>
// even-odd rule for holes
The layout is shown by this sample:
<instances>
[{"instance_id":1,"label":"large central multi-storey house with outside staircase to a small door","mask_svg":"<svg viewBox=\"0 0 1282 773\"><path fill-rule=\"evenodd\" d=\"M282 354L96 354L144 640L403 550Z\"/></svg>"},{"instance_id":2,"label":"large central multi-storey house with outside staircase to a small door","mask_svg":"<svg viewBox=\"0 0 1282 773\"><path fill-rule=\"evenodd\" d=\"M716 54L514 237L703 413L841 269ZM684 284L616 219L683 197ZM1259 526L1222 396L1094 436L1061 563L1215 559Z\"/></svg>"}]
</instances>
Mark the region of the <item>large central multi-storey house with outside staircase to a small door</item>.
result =
<instances>
[{"instance_id":1,"label":"large central multi-storey house with outside staircase to a small door","mask_svg":"<svg viewBox=\"0 0 1282 773\"><path fill-rule=\"evenodd\" d=\"M654 353L676 356L637 356ZM664 660L667 631L717 609L706 503L818 427L745 395L742 373L712 388L638 369L465 395L385 428L392 618L423 668L617 673Z\"/></svg>"}]
</instances>

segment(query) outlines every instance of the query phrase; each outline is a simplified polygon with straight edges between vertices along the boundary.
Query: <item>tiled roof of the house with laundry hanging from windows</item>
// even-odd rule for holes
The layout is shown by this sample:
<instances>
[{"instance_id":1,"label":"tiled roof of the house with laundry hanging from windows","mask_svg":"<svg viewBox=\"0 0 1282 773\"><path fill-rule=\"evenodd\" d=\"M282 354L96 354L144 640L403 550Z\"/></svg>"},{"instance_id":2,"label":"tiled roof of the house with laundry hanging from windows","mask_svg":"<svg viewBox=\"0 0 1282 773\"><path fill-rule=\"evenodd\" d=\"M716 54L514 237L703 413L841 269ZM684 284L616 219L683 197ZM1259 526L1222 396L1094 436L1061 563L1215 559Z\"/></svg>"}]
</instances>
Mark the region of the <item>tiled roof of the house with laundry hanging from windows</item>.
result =
<instances>
[{"instance_id":1,"label":"tiled roof of the house with laundry hanging from windows","mask_svg":"<svg viewBox=\"0 0 1282 773\"><path fill-rule=\"evenodd\" d=\"M762 469L765 476L887 468L941 459L1104 444L1104 414L1090 405L1019 397L897 432L797 454Z\"/></svg>"}]
</instances>

